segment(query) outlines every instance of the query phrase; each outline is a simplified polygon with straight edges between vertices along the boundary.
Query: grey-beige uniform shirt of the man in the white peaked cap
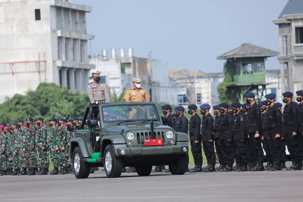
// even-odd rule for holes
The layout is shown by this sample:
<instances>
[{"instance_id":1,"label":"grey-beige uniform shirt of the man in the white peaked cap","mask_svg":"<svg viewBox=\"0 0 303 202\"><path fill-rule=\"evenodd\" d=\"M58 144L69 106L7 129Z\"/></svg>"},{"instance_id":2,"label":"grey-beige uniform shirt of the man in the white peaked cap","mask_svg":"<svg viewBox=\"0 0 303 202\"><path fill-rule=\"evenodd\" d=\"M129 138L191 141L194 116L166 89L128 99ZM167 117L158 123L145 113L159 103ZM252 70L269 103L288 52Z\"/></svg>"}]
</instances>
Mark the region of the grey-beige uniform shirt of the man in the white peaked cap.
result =
<instances>
[{"instance_id":1,"label":"grey-beige uniform shirt of the man in the white peaked cap","mask_svg":"<svg viewBox=\"0 0 303 202\"><path fill-rule=\"evenodd\" d=\"M108 86L105 82L99 82L99 84L91 82L88 84L86 91L91 103L104 100L105 103L109 103Z\"/></svg>"}]
</instances>

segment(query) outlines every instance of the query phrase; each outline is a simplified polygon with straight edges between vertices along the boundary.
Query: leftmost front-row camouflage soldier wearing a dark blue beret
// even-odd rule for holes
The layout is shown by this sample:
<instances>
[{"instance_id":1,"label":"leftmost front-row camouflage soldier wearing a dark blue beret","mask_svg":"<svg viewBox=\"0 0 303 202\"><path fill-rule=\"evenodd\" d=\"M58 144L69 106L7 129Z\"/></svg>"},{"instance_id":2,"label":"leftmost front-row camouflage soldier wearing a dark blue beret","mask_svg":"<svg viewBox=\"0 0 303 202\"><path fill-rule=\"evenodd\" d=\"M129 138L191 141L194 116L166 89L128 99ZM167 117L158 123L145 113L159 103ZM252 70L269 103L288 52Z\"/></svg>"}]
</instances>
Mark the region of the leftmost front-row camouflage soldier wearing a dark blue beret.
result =
<instances>
[{"instance_id":1,"label":"leftmost front-row camouflage soldier wearing a dark blue beret","mask_svg":"<svg viewBox=\"0 0 303 202\"><path fill-rule=\"evenodd\" d=\"M10 149L12 152L12 167L14 168L14 172L12 172L10 175L18 175L20 173L19 168L19 153L18 153L18 123L13 122L11 123L11 131L12 131L12 137L10 142Z\"/></svg>"}]
</instances>

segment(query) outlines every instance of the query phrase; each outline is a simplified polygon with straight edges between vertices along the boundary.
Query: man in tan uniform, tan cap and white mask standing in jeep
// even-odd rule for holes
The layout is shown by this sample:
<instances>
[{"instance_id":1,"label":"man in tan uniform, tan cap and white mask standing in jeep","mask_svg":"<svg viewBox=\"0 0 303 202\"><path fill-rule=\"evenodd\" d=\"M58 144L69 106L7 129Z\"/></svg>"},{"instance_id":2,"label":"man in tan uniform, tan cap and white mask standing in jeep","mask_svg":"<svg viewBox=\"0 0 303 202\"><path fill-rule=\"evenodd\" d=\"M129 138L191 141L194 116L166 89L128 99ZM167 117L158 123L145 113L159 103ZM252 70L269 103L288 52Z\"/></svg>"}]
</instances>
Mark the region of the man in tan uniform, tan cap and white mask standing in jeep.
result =
<instances>
[{"instance_id":1,"label":"man in tan uniform, tan cap and white mask standing in jeep","mask_svg":"<svg viewBox=\"0 0 303 202\"><path fill-rule=\"evenodd\" d=\"M150 102L150 97L145 88L140 87L141 79L138 76L133 78L133 87L127 89L124 99L125 102Z\"/></svg>"}]
</instances>

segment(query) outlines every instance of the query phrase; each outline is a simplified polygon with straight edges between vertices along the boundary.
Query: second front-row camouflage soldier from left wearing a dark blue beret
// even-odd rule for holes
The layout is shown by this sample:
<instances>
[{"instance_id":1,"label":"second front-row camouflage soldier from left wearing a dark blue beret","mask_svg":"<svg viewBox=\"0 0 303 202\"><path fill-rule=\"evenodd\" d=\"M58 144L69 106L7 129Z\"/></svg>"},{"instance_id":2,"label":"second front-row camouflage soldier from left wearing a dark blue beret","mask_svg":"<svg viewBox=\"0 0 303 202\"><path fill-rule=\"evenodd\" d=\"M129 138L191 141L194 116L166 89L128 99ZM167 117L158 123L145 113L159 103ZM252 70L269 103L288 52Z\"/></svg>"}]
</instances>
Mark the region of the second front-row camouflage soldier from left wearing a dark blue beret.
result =
<instances>
[{"instance_id":1,"label":"second front-row camouflage soldier from left wearing a dark blue beret","mask_svg":"<svg viewBox=\"0 0 303 202\"><path fill-rule=\"evenodd\" d=\"M28 160L28 142L26 138L26 129L23 126L23 120L20 119L18 123L18 152L19 152L19 167L22 171L18 175L26 175L27 173L27 160Z\"/></svg>"}]
</instances>

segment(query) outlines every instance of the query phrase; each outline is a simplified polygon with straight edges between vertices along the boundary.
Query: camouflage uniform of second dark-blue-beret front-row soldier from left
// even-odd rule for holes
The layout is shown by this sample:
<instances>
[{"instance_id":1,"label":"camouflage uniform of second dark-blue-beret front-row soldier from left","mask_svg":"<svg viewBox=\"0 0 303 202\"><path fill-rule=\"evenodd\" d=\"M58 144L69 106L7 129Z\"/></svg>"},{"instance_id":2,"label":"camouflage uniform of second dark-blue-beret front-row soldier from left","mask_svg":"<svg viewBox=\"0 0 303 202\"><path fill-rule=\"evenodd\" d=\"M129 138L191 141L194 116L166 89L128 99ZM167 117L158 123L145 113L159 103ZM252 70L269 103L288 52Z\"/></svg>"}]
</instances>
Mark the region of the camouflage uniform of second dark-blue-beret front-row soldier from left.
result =
<instances>
[{"instance_id":1,"label":"camouflage uniform of second dark-blue-beret front-row soldier from left","mask_svg":"<svg viewBox=\"0 0 303 202\"><path fill-rule=\"evenodd\" d=\"M19 129L18 133L18 152L19 152L19 167L20 168L27 168L27 160L28 160L28 142L26 136L26 129L25 127ZM25 151L23 151L25 148Z\"/></svg>"}]
</instances>

